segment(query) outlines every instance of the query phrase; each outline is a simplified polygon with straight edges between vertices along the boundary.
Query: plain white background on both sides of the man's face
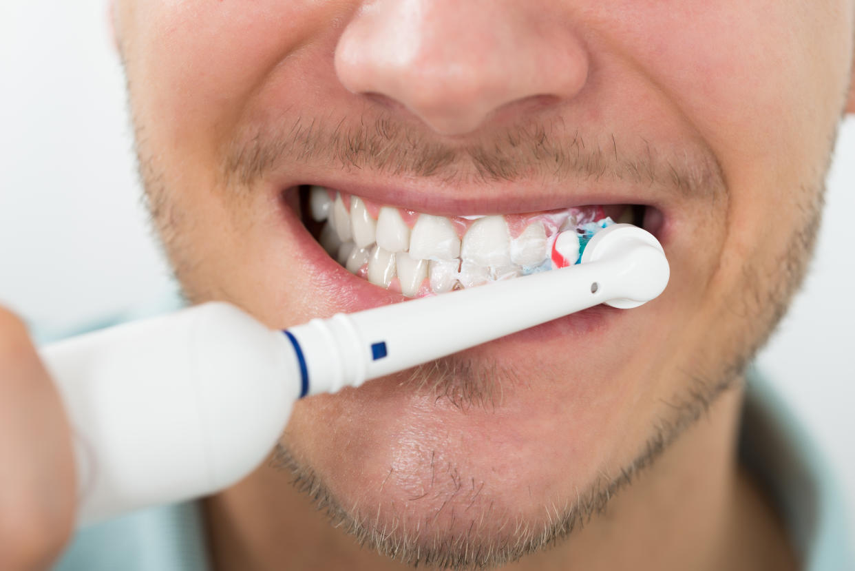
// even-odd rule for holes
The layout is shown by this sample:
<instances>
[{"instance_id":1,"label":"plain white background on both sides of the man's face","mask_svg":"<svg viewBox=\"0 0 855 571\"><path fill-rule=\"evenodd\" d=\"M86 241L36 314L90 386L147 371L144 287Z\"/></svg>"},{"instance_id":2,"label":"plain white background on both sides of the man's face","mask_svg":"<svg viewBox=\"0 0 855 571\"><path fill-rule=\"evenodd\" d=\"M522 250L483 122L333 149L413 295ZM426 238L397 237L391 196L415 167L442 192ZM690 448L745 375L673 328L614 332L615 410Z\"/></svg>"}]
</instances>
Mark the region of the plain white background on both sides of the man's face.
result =
<instances>
[{"instance_id":1,"label":"plain white background on both sides of the man's face","mask_svg":"<svg viewBox=\"0 0 855 571\"><path fill-rule=\"evenodd\" d=\"M0 301L47 330L172 288L139 199L104 3L0 3ZM817 259L759 361L816 435L855 514L851 119L828 184Z\"/></svg>"}]
</instances>

